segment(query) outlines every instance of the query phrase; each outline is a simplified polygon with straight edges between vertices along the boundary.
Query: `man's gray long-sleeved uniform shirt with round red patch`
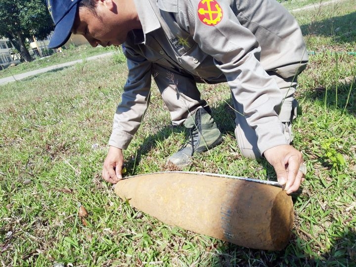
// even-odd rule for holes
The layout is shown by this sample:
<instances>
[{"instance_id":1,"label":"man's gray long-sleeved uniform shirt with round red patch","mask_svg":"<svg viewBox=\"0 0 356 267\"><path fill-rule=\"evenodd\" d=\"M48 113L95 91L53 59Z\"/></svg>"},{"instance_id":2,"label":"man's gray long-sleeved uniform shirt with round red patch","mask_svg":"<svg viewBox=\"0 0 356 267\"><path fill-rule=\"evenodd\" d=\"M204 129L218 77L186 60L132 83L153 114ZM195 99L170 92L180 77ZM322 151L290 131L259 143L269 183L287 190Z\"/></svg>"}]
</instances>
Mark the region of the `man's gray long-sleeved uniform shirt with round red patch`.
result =
<instances>
[{"instance_id":1,"label":"man's gray long-sleeved uniform shirt with round red patch","mask_svg":"<svg viewBox=\"0 0 356 267\"><path fill-rule=\"evenodd\" d=\"M142 31L130 32L123 45L129 75L109 145L126 149L136 133L149 100L152 64L180 73L179 79L227 82L261 153L287 144L276 113L282 95L266 71L293 77L307 60L299 25L288 11L274 0L135 4Z\"/></svg>"}]
</instances>

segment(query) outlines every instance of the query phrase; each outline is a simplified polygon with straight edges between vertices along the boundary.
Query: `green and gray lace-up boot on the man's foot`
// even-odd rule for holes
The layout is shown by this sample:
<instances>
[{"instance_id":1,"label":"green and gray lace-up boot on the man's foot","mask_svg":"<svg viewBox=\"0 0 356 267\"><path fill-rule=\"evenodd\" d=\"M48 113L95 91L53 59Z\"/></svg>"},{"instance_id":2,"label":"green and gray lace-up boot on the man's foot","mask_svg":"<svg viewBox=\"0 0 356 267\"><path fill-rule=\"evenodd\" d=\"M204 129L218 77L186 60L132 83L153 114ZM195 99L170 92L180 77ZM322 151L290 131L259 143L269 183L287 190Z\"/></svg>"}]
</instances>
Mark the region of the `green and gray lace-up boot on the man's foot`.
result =
<instances>
[{"instance_id":1,"label":"green and gray lace-up boot on the man's foot","mask_svg":"<svg viewBox=\"0 0 356 267\"><path fill-rule=\"evenodd\" d=\"M223 142L209 106L198 109L183 125L189 129L187 140L178 152L168 158L168 162L171 161L179 168L190 164L194 152L205 152Z\"/></svg>"}]
</instances>

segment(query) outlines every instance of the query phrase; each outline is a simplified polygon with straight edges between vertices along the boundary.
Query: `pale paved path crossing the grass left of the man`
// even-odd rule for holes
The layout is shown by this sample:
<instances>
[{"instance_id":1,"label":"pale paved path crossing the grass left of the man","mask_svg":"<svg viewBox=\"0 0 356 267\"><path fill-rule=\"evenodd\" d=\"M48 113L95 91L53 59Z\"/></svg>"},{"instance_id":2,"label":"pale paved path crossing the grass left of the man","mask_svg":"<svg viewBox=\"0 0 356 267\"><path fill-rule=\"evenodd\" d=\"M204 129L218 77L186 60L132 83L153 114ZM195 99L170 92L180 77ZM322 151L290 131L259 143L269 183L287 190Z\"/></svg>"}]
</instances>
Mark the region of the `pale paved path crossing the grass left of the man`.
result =
<instances>
[{"instance_id":1,"label":"pale paved path crossing the grass left of the man","mask_svg":"<svg viewBox=\"0 0 356 267\"><path fill-rule=\"evenodd\" d=\"M94 59L98 59L98 58L102 58L102 57L106 57L109 55L112 55L112 52L109 53L105 53L105 54L100 54L100 55L96 55L96 56L90 56L88 57L86 60L94 60ZM4 85L10 82L15 82L15 81L19 81L22 79L25 79L27 77L30 76L34 76L40 73L44 73L44 72L48 72L48 71L52 71L52 70L56 70L56 69L60 69L60 68L64 68L64 67L68 67L68 66L72 66L76 63L82 63L83 59L79 59L79 60L75 60L75 61L70 61L70 62L66 62L66 63L62 63L62 64L57 64L57 65L53 65L50 67L46 67L43 69L39 69L39 70L34 70L34 71L29 71L29 72L25 72L25 73L21 73L21 74L16 74L14 76L10 76L10 77L6 77L6 78L2 78L0 79L0 85Z\"/></svg>"}]
</instances>

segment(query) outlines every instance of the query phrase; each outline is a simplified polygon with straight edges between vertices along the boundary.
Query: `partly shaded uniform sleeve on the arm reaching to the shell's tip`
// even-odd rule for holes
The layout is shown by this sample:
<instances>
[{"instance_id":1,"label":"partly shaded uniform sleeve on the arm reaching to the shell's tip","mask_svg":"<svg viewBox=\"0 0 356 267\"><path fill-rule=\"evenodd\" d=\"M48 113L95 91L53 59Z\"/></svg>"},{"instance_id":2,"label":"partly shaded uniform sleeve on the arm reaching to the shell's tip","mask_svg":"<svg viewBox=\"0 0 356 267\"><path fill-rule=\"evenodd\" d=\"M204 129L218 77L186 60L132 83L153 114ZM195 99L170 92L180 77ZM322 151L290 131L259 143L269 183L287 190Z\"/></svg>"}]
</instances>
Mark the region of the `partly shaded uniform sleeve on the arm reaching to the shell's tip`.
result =
<instances>
[{"instance_id":1,"label":"partly shaded uniform sleeve on the arm reaching to the shell's tip","mask_svg":"<svg viewBox=\"0 0 356 267\"><path fill-rule=\"evenodd\" d=\"M151 63L126 47L129 68L122 101L118 105L109 145L127 149L148 107L151 87Z\"/></svg>"}]
</instances>

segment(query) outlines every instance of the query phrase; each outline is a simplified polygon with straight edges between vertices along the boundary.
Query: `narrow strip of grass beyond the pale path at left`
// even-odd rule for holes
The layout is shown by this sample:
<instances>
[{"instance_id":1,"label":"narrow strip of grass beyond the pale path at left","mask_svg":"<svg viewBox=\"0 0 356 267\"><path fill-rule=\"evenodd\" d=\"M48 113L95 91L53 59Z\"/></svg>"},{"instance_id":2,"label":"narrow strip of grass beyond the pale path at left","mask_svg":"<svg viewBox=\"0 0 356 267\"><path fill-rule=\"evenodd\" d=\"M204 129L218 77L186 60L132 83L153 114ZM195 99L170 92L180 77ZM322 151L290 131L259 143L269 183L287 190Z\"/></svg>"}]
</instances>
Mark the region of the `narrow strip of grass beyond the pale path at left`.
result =
<instances>
[{"instance_id":1,"label":"narrow strip of grass beyond the pale path at left","mask_svg":"<svg viewBox=\"0 0 356 267\"><path fill-rule=\"evenodd\" d=\"M108 51L109 48L105 48L102 46L95 48L91 47L90 45L73 46L68 49L63 49L61 53L54 53L47 57L37 58L32 62L23 62L16 65L15 67L8 67L6 69L0 70L0 79L28 71L49 67L52 65L87 58L89 56L102 54Z\"/></svg>"}]
</instances>

